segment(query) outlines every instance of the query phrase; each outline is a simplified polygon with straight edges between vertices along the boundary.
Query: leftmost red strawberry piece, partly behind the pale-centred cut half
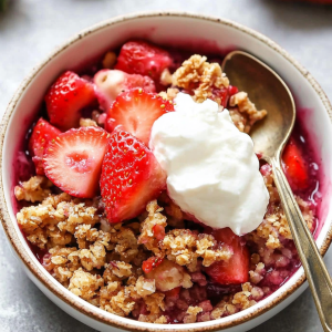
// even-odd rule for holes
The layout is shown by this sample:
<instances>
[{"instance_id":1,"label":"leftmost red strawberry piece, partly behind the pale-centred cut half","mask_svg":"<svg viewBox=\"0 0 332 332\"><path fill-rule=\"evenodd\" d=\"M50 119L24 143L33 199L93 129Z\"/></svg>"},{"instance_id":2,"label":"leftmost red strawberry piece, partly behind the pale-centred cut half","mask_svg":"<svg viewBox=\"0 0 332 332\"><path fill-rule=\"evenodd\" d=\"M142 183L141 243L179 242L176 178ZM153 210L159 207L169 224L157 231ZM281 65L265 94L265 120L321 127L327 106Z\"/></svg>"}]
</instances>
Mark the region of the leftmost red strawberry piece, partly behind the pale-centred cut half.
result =
<instances>
[{"instance_id":1,"label":"leftmost red strawberry piece, partly behind the pale-centred cut half","mask_svg":"<svg viewBox=\"0 0 332 332\"><path fill-rule=\"evenodd\" d=\"M29 152L32 156L37 174L44 175L44 149L48 143L55 139L60 134L61 132L58 128L53 127L42 117L35 124L29 141Z\"/></svg>"}]
</instances>

